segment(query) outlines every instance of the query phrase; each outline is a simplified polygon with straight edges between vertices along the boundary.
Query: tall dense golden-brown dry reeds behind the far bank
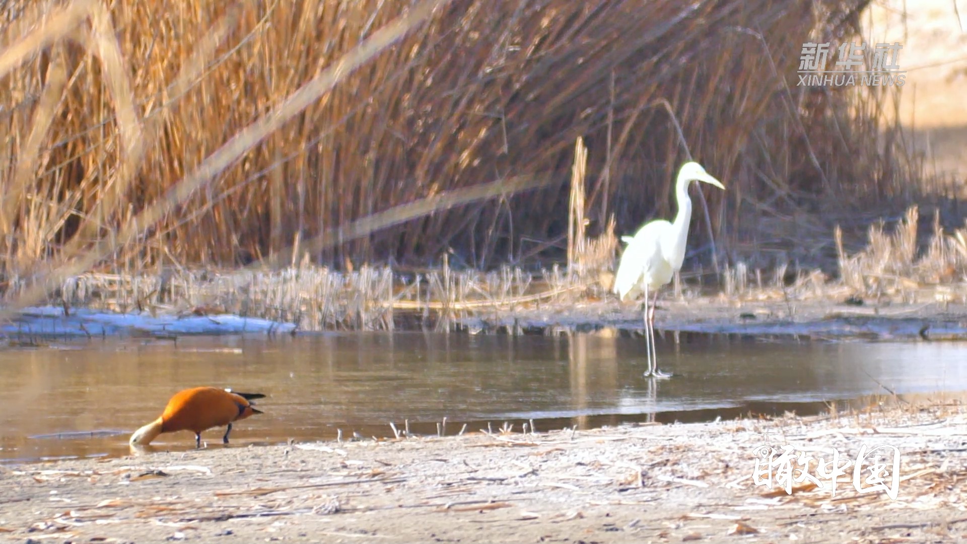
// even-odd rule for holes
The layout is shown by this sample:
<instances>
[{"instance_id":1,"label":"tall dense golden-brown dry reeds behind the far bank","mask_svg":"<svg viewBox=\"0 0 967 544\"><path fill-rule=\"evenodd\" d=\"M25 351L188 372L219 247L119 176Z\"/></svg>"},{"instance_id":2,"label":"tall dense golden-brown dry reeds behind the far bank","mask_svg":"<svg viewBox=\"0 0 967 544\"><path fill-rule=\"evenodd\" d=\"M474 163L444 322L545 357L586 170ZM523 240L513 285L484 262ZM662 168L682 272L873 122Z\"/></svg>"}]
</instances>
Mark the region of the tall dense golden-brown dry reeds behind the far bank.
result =
<instances>
[{"instance_id":1,"label":"tall dense golden-brown dry reeds behind the far bank","mask_svg":"<svg viewBox=\"0 0 967 544\"><path fill-rule=\"evenodd\" d=\"M337 267L424 266L448 252L451 265L478 268L560 259L578 136L590 233L612 214L622 234L674 213L688 155L660 101L727 187L707 198L728 255L789 259L790 240L815 222L803 217L850 217L859 202L899 209L917 191L918 166L882 121L894 89L795 86L802 45L851 39L863 0L437 1L359 69L336 69L331 91L249 139L239 160L186 184L300 86L426 5L7 3L3 271L39 274L95 248L105 269L233 266L293 247L293 259ZM305 243L514 179L542 188ZM138 215L152 205L162 213ZM700 211L692 222L701 250L709 230ZM832 252L832 226L816 228Z\"/></svg>"}]
</instances>

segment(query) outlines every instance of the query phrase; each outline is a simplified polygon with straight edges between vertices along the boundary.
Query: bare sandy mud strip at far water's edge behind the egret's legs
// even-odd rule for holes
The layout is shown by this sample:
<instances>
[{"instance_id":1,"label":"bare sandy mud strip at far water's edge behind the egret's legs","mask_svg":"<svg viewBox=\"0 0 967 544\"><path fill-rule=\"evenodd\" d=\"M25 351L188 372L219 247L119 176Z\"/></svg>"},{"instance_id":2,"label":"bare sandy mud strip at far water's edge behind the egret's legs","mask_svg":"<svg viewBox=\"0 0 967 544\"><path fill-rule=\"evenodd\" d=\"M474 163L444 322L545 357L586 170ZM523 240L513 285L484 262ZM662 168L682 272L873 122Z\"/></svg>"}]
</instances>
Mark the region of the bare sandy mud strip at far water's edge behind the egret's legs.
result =
<instances>
[{"instance_id":1,"label":"bare sandy mud strip at far water's edge behind the egret's legs","mask_svg":"<svg viewBox=\"0 0 967 544\"><path fill-rule=\"evenodd\" d=\"M657 333L690 332L866 340L967 340L967 304L944 300L947 291L931 289L905 301L896 297L850 298L846 288L816 296L784 298L776 289L752 296L725 295L659 298ZM847 303L846 301L851 303ZM857 305L859 303L859 305ZM471 333L565 331L640 332L640 304L587 300L570 305L502 308L461 319Z\"/></svg>"}]
</instances>

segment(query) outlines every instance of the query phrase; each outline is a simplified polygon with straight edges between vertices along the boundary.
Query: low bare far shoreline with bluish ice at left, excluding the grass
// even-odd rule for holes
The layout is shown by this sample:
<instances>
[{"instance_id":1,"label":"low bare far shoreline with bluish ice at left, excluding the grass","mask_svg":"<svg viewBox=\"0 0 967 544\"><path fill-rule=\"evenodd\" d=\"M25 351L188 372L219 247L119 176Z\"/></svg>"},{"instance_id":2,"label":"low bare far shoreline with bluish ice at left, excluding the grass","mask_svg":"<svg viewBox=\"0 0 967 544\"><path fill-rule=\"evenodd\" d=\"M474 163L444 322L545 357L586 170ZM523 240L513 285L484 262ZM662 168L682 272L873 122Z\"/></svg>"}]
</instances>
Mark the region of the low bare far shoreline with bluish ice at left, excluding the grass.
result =
<instances>
[{"instance_id":1,"label":"low bare far shoreline with bluish ice at left, excluding the grass","mask_svg":"<svg viewBox=\"0 0 967 544\"><path fill-rule=\"evenodd\" d=\"M278 318L278 312L254 312L276 319L225 313L225 306L191 308L152 308L116 312L117 306L92 304L91 308L27 308L0 326L15 346L36 343L37 339L83 337L159 337L176 339L184 335L220 334L299 334L323 330L425 330L455 331L470 334L540 334L573 332L598 334L641 334L639 303L619 303L600 291L600 287L572 289L538 300L524 302L453 302L449 308L425 303L423 308L407 300L372 302L352 317L342 312L332 327L305 325ZM671 289L669 289L671 290ZM675 297L666 292L659 299L656 330L659 335L678 333L734 334L762 337L796 337L815 340L967 340L967 304L962 302L967 286L920 288L903 296L864 299L855 290L826 286L812 294L792 294L778 288L749 289L742 295L697 295ZM955 301L955 302L952 302ZM335 304L325 300L308 302L326 306L335 313ZM397 307L398 306L398 307ZM112 310L115 310L112 312ZM296 310L287 312L294 315ZM242 316L240 316L240 314ZM333 314L331 314L333 315ZM376 326L375 321L379 321ZM352 327L349 323L356 323ZM364 326L364 324L372 326ZM318 323L315 323L318 325Z\"/></svg>"}]
</instances>

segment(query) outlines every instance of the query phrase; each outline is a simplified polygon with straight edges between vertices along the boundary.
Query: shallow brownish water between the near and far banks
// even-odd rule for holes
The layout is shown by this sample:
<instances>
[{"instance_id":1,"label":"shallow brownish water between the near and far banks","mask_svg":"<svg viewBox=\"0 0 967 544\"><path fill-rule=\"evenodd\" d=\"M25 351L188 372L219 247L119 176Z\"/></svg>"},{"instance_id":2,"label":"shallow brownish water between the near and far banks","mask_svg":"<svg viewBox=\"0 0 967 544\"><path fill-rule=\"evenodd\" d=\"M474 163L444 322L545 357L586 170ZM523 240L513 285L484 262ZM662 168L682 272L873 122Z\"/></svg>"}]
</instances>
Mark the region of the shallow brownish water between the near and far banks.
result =
<instances>
[{"instance_id":1,"label":"shallow brownish water between the near and far banks","mask_svg":"<svg viewBox=\"0 0 967 544\"><path fill-rule=\"evenodd\" d=\"M694 421L748 411L799 413L824 402L967 390L967 343L766 343L686 337L659 344L676 378L642 378L640 337L345 334L296 338L89 341L0 352L0 461L123 455L174 392L195 385L266 393L266 413L239 422L232 444L496 430L646 420ZM659 341L660 342L660 341ZM863 400L862 402L869 402ZM222 430L203 434L220 446ZM193 447L190 432L153 445Z\"/></svg>"}]
</instances>

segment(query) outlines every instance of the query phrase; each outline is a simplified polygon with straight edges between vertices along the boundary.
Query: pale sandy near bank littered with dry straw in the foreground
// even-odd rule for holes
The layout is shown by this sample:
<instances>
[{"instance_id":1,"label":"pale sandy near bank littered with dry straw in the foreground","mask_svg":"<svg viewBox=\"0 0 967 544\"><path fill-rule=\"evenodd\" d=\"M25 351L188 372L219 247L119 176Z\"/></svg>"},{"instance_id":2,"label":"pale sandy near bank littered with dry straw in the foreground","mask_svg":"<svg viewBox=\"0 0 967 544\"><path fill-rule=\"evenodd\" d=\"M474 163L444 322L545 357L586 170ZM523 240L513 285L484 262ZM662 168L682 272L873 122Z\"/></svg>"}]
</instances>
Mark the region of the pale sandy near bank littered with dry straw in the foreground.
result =
<instances>
[{"instance_id":1,"label":"pale sandy near bank littered with dry straw in the foreground","mask_svg":"<svg viewBox=\"0 0 967 544\"><path fill-rule=\"evenodd\" d=\"M960 483L967 475L967 408L952 400L894 401L893 408L807 418L213 445L0 467L0 531L19 542L967 537ZM791 494L776 477L765 478L773 489L756 486L754 452L763 433L772 446L789 444L797 455L827 459L834 448L855 460L864 445L894 445L900 455L896 499L883 491L858 493L851 468L839 477L835 496L827 479L820 479L826 489L797 483ZM860 484L868 487L864 474Z\"/></svg>"}]
</instances>

